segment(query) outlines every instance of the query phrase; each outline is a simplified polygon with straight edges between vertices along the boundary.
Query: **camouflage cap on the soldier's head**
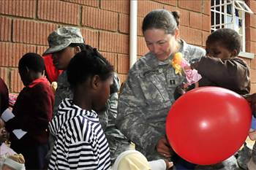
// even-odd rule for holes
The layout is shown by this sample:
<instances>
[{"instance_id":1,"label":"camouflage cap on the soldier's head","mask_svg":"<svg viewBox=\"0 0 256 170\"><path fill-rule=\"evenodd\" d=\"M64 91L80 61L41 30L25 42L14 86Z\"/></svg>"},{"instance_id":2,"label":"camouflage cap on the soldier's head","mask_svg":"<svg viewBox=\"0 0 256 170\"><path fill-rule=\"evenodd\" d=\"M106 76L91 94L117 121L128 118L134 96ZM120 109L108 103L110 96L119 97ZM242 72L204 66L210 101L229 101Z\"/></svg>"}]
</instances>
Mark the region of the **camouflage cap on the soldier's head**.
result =
<instances>
[{"instance_id":1,"label":"camouflage cap on the soldier's head","mask_svg":"<svg viewBox=\"0 0 256 170\"><path fill-rule=\"evenodd\" d=\"M84 43L80 28L61 27L48 36L49 48L43 55L55 53L68 47L71 43Z\"/></svg>"}]
</instances>

